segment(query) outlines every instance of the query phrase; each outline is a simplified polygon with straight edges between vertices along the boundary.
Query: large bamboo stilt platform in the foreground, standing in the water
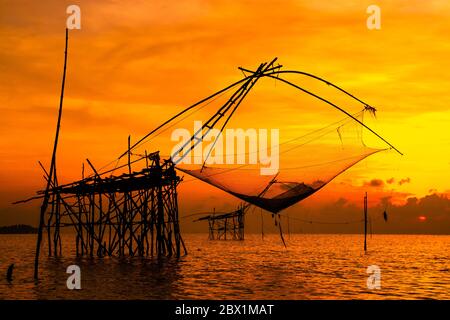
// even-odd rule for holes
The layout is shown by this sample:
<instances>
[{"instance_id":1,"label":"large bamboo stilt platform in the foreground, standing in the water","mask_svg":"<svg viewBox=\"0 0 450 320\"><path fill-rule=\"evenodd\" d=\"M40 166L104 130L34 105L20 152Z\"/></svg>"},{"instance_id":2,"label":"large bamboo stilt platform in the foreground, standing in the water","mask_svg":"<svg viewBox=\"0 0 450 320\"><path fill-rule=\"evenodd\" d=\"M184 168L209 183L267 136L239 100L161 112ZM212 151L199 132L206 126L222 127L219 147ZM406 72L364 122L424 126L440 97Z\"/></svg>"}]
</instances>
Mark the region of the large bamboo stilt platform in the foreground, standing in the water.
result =
<instances>
[{"instance_id":1,"label":"large bamboo stilt platform in the foreground, standing in the water","mask_svg":"<svg viewBox=\"0 0 450 320\"><path fill-rule=\"evenodd\" d=\"M49 256L61 255L62 227L76 231L77 256L172 256L187 253L178 224L173 163L149 154L141 171L95 174L52 187L44 219ZM39 192L43 194L45 191Z\"/></svg>"}]
</instances>

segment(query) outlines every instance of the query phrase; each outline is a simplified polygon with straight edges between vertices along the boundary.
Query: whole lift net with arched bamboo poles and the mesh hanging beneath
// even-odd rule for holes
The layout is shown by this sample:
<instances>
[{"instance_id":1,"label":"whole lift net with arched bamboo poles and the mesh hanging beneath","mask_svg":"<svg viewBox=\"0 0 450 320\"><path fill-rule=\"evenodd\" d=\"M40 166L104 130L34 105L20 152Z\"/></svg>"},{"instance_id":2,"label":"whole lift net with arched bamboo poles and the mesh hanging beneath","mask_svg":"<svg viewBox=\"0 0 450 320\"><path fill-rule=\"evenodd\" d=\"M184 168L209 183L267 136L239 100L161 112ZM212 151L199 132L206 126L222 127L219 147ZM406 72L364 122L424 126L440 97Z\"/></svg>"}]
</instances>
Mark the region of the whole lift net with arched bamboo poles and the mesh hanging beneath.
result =
<instances>
[{"instance_id":1,"label":"whole lift net with arched bamboo poles and the mesh hanging beneath","mask_svg":"<svg viewBox=\"0 0 450 320\"><path fill-rule=\"evenodd\" d=\"M185 109L133 145L133 155L160 150L181 172L278 213L388 149L364 124L375 109L361 100L313 77L268 75L246 74Z\"/></svg>"}]
</instances>

